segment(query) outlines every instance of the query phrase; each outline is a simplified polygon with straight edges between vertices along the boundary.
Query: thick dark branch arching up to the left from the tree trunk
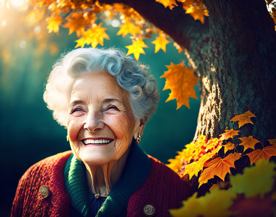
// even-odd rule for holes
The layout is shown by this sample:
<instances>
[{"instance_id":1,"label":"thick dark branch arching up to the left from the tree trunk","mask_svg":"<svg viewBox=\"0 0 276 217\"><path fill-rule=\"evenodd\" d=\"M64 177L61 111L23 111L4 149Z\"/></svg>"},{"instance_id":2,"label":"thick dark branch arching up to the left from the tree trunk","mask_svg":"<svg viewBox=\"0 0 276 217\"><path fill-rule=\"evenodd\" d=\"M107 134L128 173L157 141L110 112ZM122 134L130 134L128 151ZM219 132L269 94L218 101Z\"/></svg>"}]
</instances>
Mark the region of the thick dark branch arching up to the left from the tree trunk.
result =
<instances>
[{"instance_id":1,"label":"thick dark branch arching up to the left from the tree trunk","mask_svg":"<svg viewBox=\"0 0 276 217\"><path fill-rule=\"evenodd\" d=\"M202 43L205 40L205 33L209 32L208 19L204 25L199 20L195 21L191 15L185 14L181 2L177 2L179 6L174 7L173 10L165 8L154 0L99 0L99 2L124 3L132 7L148 22L170 35L176 43L188 51L192 51L193 45Z\"/></svg>"}]
</instances>

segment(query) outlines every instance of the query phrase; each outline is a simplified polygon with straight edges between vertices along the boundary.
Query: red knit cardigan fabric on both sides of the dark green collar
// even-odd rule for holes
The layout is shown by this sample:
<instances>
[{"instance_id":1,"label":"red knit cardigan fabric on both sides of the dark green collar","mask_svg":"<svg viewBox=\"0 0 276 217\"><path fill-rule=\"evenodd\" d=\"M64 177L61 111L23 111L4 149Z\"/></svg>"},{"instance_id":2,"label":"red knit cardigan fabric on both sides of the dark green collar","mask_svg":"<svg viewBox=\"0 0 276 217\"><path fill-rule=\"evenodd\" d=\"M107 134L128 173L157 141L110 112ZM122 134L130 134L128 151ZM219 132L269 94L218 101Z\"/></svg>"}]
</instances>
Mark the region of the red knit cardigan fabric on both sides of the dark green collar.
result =
<instances>
[{"instance_id":1,"label":"red knit cardigan fabric on both sides of the dark green collar","mask_svg":"<svg viewBox=\"0 0 276 217\"><path fill-rule=\"evenodd\" d=\"M65 191L63 169L72 151L45 158L31 166L19 180L12 217L69 217L70 199ZM145 216L145 204L154 204L155 216L170 216L168 209L181 207L181 201L192 194L189 184L162 162L148 155L152 169L144 184L128 201L128 217ZM43 199L39 188L47 185L51 191Z\"/></svg>"}]
</instances>

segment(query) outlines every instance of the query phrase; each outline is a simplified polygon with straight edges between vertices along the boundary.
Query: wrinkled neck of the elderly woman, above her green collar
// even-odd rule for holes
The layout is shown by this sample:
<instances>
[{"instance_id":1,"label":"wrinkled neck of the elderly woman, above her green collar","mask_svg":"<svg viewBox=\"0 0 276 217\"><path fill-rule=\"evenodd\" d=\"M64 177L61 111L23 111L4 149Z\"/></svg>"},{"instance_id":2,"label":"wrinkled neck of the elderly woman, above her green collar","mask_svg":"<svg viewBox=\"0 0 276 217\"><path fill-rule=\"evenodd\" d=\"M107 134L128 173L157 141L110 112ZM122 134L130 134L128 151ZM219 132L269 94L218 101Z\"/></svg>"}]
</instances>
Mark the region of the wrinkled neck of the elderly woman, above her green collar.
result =
<instances>
[{"instance_id":1,"label":"wrinkled neck of the elderly woman, above her green collar","mask_svg":"<svg viewBox=\"0 0 276 217\"><path fill-rule=\"evenodd\" d=\"M88 189L92 194L107 196L116 182L120 179L132 144L117 161L110 161L103 165L88 165L86 163L86 177Z\"/></svg>"}]
</instances>

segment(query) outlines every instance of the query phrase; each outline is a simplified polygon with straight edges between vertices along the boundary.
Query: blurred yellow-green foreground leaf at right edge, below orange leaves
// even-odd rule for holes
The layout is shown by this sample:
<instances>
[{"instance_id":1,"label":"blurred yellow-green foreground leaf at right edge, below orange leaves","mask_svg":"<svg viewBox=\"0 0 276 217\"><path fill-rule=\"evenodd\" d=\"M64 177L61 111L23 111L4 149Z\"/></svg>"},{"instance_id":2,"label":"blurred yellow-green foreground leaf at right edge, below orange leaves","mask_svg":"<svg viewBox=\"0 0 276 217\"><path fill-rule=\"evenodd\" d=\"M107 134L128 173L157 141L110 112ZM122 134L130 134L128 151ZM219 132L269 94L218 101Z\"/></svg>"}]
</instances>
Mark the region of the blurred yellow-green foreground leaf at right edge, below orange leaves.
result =
<instances>
[{"instance_id":1,"label":"blurred yellow-green foreground leaf at right edge, below orange leaves","mask_svg":"<svg viewBox=\"0 0 276 217\"><path fill-rule=\"evenodd\" d=\"M244 194L251 197L272 190L276 164L267 160L260 160L256 166L246 167L243 174L236 174L229 177L232 191L237 194Z\"/></svg>"}]
</instances>

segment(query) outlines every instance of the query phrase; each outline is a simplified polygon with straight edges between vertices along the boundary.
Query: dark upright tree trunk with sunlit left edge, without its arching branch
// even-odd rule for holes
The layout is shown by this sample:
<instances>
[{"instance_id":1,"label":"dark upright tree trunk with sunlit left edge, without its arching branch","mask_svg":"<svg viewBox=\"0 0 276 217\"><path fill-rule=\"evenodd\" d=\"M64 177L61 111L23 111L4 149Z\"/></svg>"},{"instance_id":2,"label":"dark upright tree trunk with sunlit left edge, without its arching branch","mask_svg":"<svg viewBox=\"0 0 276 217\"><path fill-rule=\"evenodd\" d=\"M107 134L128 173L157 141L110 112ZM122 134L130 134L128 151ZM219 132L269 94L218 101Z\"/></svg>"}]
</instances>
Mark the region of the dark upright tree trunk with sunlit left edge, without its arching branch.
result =
<instances>
[{"instance_id":1,"label":"dark upright tree trunk with sunlit left edge, without its arching branch","mask_svg":"<svg viewBox=\"0 0 276 217\"><path fill-rule=\"evenodd\" d=\"M204 0L204 4L211 52L203 56L195 136L217 137L226 126L238 129L230 119L250 109L256 116L254 125L242 126L240 136L275 138L276 32L265 1Z\"/></svg>"}]
</instances>

